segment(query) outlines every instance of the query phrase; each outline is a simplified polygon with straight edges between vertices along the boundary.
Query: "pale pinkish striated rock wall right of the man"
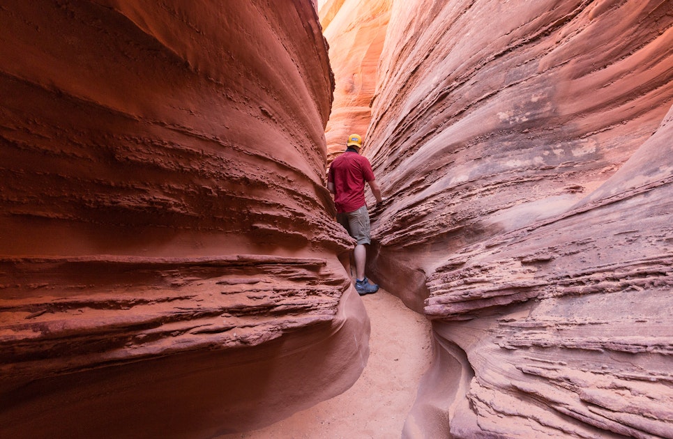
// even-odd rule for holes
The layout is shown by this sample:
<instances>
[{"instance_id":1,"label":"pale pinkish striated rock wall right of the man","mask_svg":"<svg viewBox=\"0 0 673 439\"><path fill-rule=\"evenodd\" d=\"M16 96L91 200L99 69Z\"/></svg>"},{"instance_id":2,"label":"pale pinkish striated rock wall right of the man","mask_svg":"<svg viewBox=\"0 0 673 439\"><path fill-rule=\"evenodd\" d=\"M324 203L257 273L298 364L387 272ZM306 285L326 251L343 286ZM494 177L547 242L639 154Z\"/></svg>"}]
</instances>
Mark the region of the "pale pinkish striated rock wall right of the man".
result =
<instances>
[{"instance_id":1,"label":"pale pinkish striated rock wall right of the man","mask_svg":"<svg viewBox=\"0 0 673 439\"><path fill-rule=\"evenodd\" d=\"M672 102L671 1L393 3L363 153L371 277L437 336L406 436L673 437Z\"/></svg>"}]
</instances>

